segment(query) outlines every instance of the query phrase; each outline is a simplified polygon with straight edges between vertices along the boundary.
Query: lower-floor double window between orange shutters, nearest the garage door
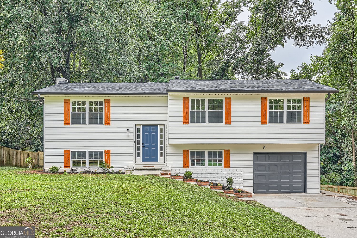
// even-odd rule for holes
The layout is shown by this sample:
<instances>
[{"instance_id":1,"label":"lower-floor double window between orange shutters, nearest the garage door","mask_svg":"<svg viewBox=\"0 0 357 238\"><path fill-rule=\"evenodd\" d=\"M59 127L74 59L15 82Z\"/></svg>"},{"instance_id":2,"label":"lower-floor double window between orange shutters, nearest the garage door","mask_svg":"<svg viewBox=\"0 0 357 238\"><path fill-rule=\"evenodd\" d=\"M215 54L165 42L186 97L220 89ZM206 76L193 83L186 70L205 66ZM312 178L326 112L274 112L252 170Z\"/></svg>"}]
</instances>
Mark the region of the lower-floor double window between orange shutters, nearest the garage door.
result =
<instances>
[{"instance_id":1,"label":"lower-floor double window between orange shutters, nearest the garage door","mask_svg":"<svg viewBox=\"0 0 357 238\"><path fill-rule=\"evenodd\" d=\"M190 151L190 167L222 167L222 150Z\"/></svg>"}]
</instances>

